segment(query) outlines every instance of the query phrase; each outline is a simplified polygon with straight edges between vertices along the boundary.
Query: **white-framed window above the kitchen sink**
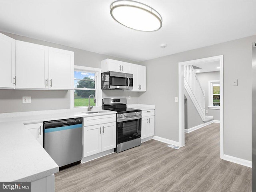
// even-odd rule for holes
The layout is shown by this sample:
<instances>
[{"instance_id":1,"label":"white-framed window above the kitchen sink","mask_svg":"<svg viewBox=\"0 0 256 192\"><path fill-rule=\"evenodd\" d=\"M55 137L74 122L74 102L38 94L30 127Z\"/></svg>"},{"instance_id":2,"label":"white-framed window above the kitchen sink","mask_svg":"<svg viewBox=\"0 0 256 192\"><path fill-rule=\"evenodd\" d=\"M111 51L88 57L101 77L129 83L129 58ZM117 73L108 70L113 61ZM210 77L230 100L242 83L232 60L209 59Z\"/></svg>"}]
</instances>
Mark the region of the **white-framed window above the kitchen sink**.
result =
<instances>
[{"instance_id":1,"label":"white-framed window above the kitchen sink","mask_svg":"<svg viewBox=\"0 0 256 192\"><path fill-rule=\"evenodd\" d=\"M91 106L101 106L102 90L100 85L101 69L83 66L74 67L74 91L70 92L71 107L86 107L89 105L89 96L92 94L96 98L90 98Z\"/></svg>"}]
</instances>

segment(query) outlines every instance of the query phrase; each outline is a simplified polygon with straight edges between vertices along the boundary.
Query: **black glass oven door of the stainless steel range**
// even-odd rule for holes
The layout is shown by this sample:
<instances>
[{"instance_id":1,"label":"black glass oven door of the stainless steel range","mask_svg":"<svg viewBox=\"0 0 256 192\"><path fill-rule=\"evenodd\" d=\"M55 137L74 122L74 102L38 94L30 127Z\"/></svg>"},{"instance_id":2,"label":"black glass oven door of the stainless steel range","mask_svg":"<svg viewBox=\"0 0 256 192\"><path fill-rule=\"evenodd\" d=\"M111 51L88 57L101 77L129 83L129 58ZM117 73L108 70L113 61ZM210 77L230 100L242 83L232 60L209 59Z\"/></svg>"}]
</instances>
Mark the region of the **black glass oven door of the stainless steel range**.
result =
<instances>
[{"instance_id":1,"label":"black glass oven door of the stainless steel range","mask_svg":"<svg viewBox=\"0 0 256 192\"><path fill-rule=\"evenodd\" d=\"M141 116L117 120L117 144L141 137Z\"/></svg>"}]
</instances>

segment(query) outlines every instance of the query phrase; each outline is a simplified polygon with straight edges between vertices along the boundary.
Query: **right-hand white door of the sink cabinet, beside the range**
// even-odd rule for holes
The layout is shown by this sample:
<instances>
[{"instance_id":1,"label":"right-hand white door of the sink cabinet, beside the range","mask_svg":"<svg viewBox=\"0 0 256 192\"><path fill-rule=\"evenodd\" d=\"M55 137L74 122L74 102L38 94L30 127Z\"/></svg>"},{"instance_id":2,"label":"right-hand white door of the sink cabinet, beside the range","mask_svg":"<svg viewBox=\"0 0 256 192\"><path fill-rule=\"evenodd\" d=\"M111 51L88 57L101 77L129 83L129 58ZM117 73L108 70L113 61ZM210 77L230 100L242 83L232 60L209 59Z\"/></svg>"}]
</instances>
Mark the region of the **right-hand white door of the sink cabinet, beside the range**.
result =
<instances>
[{"instance_id":1,"label":"right-hand white door of the sink cabinet, beside the range","mask_svg":"<svg viewBox=\"0 0 256 192\"><path fill-rule=\"evenodd\" d=\"M106 151L116 148L116 122L102 124L101 137L102 150Z\"/></svg>"}]
</instances>

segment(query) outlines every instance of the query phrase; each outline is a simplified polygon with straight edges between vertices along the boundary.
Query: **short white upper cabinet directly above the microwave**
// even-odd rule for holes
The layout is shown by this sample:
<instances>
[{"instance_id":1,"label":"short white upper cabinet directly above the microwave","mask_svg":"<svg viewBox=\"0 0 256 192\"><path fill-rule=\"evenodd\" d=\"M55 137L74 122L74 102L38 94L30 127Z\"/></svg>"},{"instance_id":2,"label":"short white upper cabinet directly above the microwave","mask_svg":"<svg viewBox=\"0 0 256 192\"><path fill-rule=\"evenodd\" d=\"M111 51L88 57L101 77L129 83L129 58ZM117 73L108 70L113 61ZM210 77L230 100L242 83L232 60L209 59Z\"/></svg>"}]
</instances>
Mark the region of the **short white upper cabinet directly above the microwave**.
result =
<instances>
[{"instance_id":1,"label":"short white upper cabinet directly above the microwave","mask_svg":"<svg viewBox=\"0 0 256 192\"><path fill-rule=\"evenodd\" d=\"M115 71L122 73L131 73L132 64L112 59L105 59L101 61L102 72Z\"/></svg>"}]
</instances>

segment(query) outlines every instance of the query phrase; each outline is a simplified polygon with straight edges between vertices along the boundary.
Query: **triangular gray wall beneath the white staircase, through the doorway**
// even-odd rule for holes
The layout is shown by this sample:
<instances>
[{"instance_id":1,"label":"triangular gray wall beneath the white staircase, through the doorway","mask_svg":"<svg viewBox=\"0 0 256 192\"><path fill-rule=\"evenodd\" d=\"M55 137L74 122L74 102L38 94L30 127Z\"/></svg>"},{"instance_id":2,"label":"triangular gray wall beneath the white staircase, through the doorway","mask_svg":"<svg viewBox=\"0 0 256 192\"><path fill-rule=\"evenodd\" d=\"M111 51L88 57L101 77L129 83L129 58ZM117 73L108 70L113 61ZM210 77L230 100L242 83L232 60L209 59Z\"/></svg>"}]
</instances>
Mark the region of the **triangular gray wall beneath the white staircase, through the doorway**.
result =
<instances>
[{"instance_id":1,"label":"triangular gray wall beneath the white staircase, through the doorway","mask_svg":"<svg viewBox=\"0 0 256 192\"><path fill-rule=\"evenodd\" d=\"M198 114L196 107L194 106L192 100L190 99L186 90L184 91L185 96L187 98L187 129L203 124L200 115Z\"/></svg>"}]
</instances>

